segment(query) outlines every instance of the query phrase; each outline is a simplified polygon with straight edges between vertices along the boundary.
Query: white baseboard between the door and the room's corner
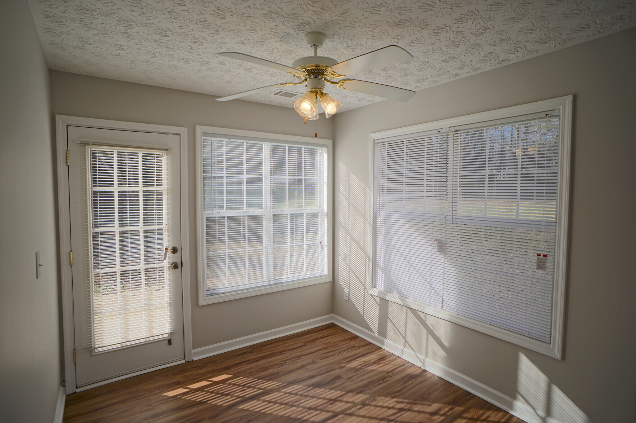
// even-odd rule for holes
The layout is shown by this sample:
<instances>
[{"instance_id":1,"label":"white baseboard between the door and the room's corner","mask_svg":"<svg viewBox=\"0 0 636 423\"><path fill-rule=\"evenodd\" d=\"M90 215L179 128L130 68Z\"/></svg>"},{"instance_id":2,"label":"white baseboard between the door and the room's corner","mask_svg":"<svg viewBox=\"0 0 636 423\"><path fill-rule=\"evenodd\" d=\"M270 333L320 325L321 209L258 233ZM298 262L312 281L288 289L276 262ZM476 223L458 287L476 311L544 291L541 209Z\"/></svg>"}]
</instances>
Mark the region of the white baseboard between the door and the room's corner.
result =
<instances>
[{"instance_id":1,"label":"white baseboard between the door and the room's corner","mask_svg":"<svg viewBox=\"0 0 636 423\"><path fill-rule=\"evenodd\" d=\"M326 315L311 320L305 320L305 322L279 327L278 329L266 330L259 334L247 335L237 339L230 339L230 341L219 342L218 344L207 347L193 349L192 360L200 360L201 358L226 353L233 349L239 349L253 344L258 344L258 342L269 341L270 339L295 334L296 332L312 329L331 322L333 322L333 315Z\"/></svg>"}]
</instances>

